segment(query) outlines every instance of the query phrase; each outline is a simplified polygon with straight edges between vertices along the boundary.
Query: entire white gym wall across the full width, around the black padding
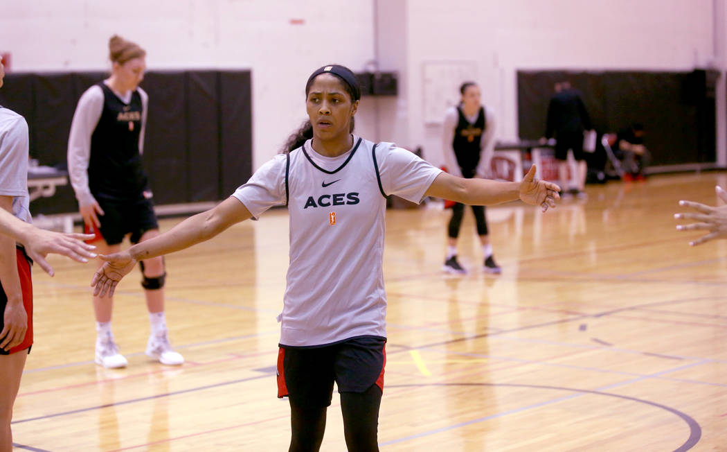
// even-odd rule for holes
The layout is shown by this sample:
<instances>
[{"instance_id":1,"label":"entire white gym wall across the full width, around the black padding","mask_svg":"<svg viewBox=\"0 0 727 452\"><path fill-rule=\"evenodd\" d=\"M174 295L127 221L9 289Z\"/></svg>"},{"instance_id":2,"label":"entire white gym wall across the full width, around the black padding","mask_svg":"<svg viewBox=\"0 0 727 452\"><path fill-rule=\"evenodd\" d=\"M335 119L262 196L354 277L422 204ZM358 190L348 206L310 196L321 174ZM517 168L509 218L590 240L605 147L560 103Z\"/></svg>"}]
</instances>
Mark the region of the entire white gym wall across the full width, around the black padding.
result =
<instances>
[{"instance_id":1,"label":"entire white gym wall across the full width, around the black padding","mask_svg":"<svg viewBox=\"0 0 727 452\"><path fill-rule=\"evenodd\" d=\"M726 0L3 0L0 52L12 52L15 71L97 70L119 33L148 50L151 69L252 68L254 167L304 119L313 69L359 71L378 58L400 73L400 95L364 98L358 132L423 146L438 163L440 127L424 123L425 62L474 63L497 135L516 138L518 69L724 70L715 5L724 14Z\"/></svg>"}]
</instances>

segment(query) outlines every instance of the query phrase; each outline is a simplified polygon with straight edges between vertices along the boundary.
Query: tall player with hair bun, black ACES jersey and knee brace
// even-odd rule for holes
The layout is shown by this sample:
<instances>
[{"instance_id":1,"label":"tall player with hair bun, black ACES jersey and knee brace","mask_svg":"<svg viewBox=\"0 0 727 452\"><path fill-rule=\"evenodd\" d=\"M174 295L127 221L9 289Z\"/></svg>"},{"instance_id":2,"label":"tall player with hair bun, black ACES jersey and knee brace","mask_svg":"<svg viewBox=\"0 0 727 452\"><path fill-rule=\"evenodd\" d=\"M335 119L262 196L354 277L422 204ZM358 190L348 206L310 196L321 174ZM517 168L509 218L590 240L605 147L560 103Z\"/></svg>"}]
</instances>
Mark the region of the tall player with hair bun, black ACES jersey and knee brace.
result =
<instances>
[{"instance_id":1,"label":"tall player with hair bun, black ACES jersey and knee brace","mask_svg":"<svg viewBox=\"0 0 727 452\"><path fill-rule=\"evenodd\" d=\"M99 234L100 252L121 249L158 235L152 194L141 154L148 96L138 85L144 77L146 52L131 41L109 41L111 76L90 87L79 100L68 138L68 173L79 210L89 231ZM184 358L172 350L164 317L162 258L140 262L151 333L146 354L166 365ZM111 331L113 299L93 297L96 317L95 361L105 368L126 366Z\"/></svg>"}]
</instances>

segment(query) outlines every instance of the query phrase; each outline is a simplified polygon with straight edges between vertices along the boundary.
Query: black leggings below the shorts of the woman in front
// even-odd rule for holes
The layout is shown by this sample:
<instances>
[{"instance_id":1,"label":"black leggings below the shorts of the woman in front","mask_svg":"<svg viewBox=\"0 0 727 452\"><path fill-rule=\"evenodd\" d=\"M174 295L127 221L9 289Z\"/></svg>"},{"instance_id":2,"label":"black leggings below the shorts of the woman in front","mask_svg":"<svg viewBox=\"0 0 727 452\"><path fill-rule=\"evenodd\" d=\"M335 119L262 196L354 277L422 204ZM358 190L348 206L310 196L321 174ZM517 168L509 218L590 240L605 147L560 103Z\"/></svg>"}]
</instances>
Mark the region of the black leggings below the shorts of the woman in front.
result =
<instances>
[{"instance_id":1,"label":"black leggings below the shorts of the woman in front","mask_svg":"<svg viewBox=\"0 0 727 452\"><path fill-rule=\"evenodd\" d=\"M377 430L381 389L375 384L365 392L342 392L343 433L349 452L379 450ZM290 403L292 437L289 452L316 452L326 429L326 407L299 408Z\"/></svg>"}]
</instances>

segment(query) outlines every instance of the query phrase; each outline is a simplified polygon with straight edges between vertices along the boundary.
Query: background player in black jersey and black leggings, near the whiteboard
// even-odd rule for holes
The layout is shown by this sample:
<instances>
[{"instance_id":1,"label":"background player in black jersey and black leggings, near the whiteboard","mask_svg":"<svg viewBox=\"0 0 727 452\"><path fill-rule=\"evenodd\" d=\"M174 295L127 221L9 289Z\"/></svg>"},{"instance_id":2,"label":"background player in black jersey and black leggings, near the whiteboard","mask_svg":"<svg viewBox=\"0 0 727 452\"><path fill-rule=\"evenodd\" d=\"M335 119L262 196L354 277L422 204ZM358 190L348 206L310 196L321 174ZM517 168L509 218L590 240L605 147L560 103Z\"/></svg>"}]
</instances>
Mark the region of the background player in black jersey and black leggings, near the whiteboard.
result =
<instances>
[{"instance_id":1,"label":"background player in black jersey and black leggings, near the whiteboard","mask_svg":"<svg viewBox=\"0 0 727 452\"><path fill-rule=\"evenodd\" d=\"M449 173L462 178L486 178L494 150L494 114L490 108L480 103L480 87L474 82L465 82L459 87L462 101L449 108L444 118L442 151ZM465 205L456 202L451 207L447 234L447 254L443 270L449 273L464 274L467 271L457 260L457 237ZM486 273L498 274L500 267L495 263L490 245L485 207L473 205L477 234L482 245Z\"/></svg>"}]
</instances>

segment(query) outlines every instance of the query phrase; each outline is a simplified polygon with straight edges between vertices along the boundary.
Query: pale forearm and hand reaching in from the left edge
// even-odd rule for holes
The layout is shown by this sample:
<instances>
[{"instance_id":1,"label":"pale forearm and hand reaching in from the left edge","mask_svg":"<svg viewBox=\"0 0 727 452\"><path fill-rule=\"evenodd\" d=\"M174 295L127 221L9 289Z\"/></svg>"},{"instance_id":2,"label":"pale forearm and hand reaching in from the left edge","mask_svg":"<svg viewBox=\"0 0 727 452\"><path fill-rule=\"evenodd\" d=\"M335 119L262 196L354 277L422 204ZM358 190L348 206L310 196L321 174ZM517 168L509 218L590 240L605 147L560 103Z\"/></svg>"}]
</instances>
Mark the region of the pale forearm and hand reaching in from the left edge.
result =
<instances>
[{"instance_id":1,"label":"pale forearm and hand reaching in from the left edge","mask_svg":"<svg viewBox=\"0 0 727 452\"><path fill-rule=\"evenodd\" d=\"M88 262L95 258L95 246L88 245L81 240L92 239L89 234L62 234L60 232L46 231L21 221L6 210L0 209L0 234L7 235L25 245L25 251L41 269L53 276L53 268L45 256L49 253L62 254L74 261Z\"/></svg>"}]
</instances>

